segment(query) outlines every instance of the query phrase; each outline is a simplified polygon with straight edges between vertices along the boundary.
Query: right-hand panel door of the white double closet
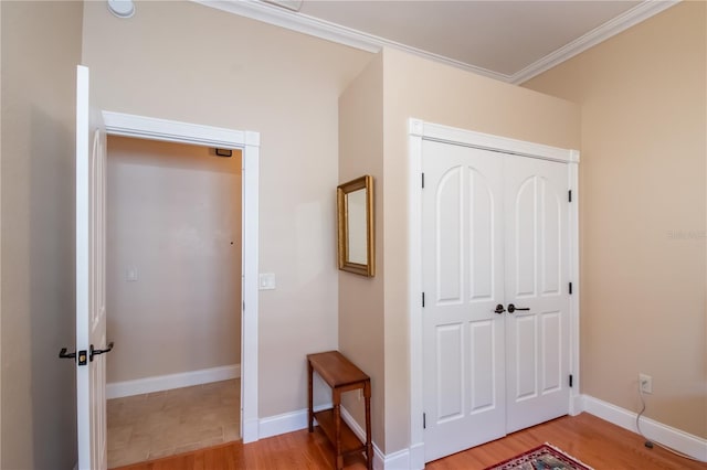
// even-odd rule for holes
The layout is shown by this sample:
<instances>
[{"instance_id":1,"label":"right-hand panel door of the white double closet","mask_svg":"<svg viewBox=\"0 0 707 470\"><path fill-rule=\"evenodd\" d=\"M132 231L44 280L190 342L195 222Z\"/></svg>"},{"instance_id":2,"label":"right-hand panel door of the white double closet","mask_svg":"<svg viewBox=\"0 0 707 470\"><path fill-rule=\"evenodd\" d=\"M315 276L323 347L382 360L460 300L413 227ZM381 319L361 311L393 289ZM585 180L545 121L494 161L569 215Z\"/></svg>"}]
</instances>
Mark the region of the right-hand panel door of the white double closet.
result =
<instances>
[{"instance_id":1,"label":"right-hand panel door of the white double closet","mask_svg":"<svg viewBox=\"0 0 707 470\"><path fill-rule=\"evenodd\" d=\"M567 164L504 156L507 432L569 407Z\"/></svg>"}]
</instances>

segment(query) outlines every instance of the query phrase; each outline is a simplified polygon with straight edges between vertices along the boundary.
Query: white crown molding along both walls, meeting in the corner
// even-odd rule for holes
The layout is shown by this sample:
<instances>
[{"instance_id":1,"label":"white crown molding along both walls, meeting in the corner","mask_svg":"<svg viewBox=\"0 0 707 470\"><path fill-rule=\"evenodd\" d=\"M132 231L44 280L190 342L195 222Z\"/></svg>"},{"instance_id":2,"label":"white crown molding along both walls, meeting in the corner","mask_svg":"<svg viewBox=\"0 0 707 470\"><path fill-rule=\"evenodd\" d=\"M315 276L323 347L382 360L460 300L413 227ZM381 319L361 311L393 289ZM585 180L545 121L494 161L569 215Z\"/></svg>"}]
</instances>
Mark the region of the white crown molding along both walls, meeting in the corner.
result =
<instances>
[{"instance_id":1,"label":"white crown molding along both walls, meeting in the corner","mask_svg":"<svg viewBox=\"0 0 707 470\"><path fill-rule=\"evenodd\" d=\"M258 0L191 0L204 7L215 8L221 11L246 17L276 26L285 28L315 38L348 45L361 51L378 53L383 47L392 47L408 52L424 58L430 58L456 68L484 75L500 82L519 85L536 75L546 72L556 65L587 51L629 28L647 20L648 18L679 3L680 0L645 0L623 14L603 23L587 34L576 39L567 45L551 52L545 57L534 62L513 75L502 74L478 67L465 62L434 54L395 41L390 41L362 31L346 28L340 24L320 20L318 18L297 13L273 3Z\"/></svg>"}]
</instances>

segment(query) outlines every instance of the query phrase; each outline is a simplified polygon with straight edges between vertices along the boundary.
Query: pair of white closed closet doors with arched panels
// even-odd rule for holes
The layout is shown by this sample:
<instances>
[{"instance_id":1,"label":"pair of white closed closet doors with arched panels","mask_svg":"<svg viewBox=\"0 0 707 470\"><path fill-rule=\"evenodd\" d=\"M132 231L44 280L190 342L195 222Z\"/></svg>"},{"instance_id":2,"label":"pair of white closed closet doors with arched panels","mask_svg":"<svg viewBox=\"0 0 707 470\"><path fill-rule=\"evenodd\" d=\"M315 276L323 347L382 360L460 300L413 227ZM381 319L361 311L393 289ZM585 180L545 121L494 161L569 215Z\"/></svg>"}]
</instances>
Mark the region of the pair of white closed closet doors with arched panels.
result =
<instances>
[{"instance_id":1,"label":"pair of white closed closet doors with arched panels","mask_svg":"<svg viewBox=\"0 0 707 470\"><path fill-rule=\"evenodd\" d=\"M429 140L422 167L430 461L569 410L569 179L566 163Z\"/></svg>"}]
</instances>

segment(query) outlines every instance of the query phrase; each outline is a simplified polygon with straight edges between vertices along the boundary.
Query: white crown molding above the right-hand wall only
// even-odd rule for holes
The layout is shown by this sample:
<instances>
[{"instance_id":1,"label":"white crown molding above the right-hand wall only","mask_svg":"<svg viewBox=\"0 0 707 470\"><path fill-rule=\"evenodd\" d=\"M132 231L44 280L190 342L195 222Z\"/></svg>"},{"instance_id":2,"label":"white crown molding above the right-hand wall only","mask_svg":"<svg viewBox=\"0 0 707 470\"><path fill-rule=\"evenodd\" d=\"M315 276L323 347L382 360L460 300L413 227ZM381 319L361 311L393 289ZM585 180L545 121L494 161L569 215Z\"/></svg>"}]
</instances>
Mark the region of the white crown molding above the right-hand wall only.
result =
<instances>
[{"instance_id":1,"label":"white crown molding above the right-hand wall only","mask_svg":"<svg viewBox=\"0 0 707 470\"><path fill-rule=\"evenodd\" d=\"M615 36L616 34L634 26L659 12L679 3L680 0L645 0L623 14L606 21L604 24L594 28L587 34L551 52L545 57L534 62L520 72L510 76L508 82L520 85L530 78L561 64L564 61L587 51L597 44Z\"/></svg>"}]
</instances>

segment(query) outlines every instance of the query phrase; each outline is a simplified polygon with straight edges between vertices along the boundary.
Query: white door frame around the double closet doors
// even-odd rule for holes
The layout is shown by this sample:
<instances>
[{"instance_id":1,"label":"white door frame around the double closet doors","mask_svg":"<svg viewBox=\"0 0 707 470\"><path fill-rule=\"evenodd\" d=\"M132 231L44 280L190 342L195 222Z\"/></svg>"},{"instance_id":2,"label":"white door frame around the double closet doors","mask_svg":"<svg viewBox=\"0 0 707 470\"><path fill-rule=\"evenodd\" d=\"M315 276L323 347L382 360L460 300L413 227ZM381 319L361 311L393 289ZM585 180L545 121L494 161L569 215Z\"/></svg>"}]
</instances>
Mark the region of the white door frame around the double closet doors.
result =
<instances>
[{"instance_id":1,"label":"white door frame around the double closet doors","mask_svg":"<svg viewBox=\"0 0 707 470\"><path fill-rule=\"evenodd\" d=\"M410 468L424 468L423 417L423 351L422 351L422 141L434 140L458 146L500 151L528 158L559 161L568 164L568 185L572 191L569 210L569 271L572 281L570 296L570 374L573 386L570 392L571 415L582 412L579 393L579 151L560 149L539 143L508 139L489 133L474 132L409 119L408 164L408 319L410 324Z\"/></svg>"}]
</instances>

